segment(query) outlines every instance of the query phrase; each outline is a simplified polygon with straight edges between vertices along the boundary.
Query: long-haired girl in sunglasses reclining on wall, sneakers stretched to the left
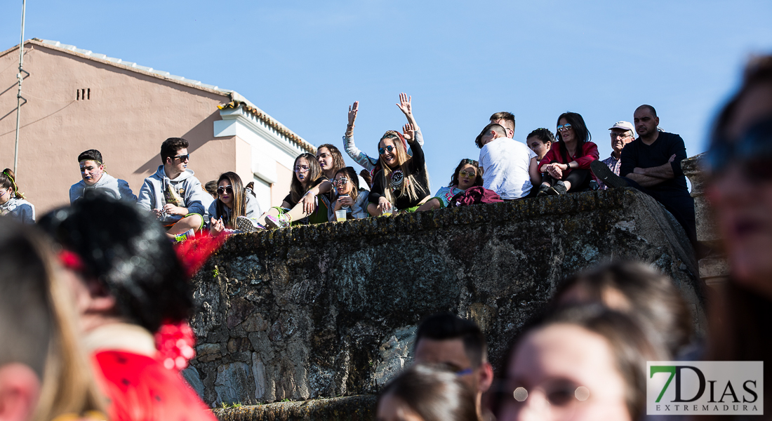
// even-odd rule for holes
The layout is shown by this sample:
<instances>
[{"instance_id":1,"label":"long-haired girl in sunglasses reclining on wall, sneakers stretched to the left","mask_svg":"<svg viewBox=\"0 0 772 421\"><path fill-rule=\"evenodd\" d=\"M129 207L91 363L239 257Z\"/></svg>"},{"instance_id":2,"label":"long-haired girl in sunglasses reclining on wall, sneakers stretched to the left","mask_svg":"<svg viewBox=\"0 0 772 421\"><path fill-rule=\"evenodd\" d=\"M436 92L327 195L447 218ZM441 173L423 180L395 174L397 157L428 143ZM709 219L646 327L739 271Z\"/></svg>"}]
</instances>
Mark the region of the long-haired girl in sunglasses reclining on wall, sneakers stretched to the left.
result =
<instances>
[{"instance_id":1,"label":"long-haired girl in sunglasses reclining on wall, sneakers stretched to the left","mask_svg":"<svg viewBox=\"0 0 772 421\"><path fill-rule=\"evenodd\" d=\"M334 197L333 185L324 176L317 157L300 154L293 165L295 175L289 194L281 207L268 209L258 219L239 218L239 229L249 233L256 229L286 228L290 224L328 222L327 209Z\"/></svg>"}]
</instances>

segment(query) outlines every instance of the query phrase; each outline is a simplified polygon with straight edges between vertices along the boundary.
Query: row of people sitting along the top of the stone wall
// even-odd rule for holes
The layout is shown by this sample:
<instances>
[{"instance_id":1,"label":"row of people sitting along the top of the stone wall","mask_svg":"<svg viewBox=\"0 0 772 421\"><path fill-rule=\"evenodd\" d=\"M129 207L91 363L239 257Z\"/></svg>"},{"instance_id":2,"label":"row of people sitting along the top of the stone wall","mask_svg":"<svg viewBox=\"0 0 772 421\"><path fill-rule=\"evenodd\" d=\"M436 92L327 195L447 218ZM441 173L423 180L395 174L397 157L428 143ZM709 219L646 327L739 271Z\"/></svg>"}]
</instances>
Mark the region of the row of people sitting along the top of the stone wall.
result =
<instances>
[{"instance_id":1,"label":"row of people sitting along the top of the stone wall","mask_svg":"<svg viewBox=\"0 0 772 421\"><path fill-rule=\"evenodd\" d=\"M317 154L296 157L289 193L281 205L263 211L252 188L239 175L224 172L204 185L188 168L188 141L168 138L161 144L161 162L145 178L139 197L128 183L107 174L100 151L78 156L82 180L69 189L73 203L91 191L137 202L167 229L168 237L184 241L201 232L252 232L399 212L417 212L460 205L564 195L595 189L634 187L651 195L672 213L696 244L694 201L689 195L681 161L686 146L678 134L659 130L659 117L650 105L633 113L631 124L618 121L609 128L611 156L600 160L598 146L581 114L557 117L553 134L537 128L525 142L515 141L515 117L510 112L490 116L475 139L479 158L462 158L432 195L424 155L424 138L412 109L412 98L401 93L397 107L405 114L400 131L386 131L371 156L354 143L359 103L349 107L344 151L362 169L347 166L333 144ZM635 132L638 138L635 138ZM14 175L0 175L0 214L35 222L35 207L19 192Z\"/></svg>"}]
</instances>

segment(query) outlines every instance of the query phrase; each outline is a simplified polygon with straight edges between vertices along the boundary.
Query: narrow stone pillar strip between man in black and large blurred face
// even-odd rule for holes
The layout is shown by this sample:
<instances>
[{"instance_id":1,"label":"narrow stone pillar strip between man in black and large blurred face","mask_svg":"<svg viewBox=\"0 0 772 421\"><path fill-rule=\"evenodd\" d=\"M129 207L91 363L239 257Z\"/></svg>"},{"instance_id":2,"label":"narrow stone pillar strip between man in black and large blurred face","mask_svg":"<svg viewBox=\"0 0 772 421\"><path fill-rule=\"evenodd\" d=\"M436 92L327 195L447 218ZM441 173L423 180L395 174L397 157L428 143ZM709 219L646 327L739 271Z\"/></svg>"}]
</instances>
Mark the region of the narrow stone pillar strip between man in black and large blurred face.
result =
<instances>
[{"instance_id":1,"label":"narrow stone pillar strip between man in black and large blurred face","mask_svg":"<svg viewBox=\"0 0 772 421\"><path fill-rule=\"evenodd\" d=\"M681 161L684 175L692 183L694 213L697 219L697 241L703 245L706 255L699 260L699 277L708 285L726 282L729 278L729 263L721 251L721 238L716 229L712 209L705 197L705 176L702 171L703 154Z\"/></svg>"}]
</instances>

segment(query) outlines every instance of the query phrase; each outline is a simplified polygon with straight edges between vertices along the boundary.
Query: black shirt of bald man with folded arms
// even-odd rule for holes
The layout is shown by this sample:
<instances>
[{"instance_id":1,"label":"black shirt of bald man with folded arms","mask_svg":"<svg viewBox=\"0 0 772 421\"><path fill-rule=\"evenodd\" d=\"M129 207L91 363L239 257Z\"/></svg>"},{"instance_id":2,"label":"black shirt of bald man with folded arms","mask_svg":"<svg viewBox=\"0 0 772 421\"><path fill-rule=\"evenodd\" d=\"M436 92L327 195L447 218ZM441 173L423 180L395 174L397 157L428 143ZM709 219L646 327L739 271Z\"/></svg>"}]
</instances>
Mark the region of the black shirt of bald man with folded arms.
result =
<instances>
[{"instance_id":1,"label":"black shirt of bald man with folded arms","mask_svg":"<svg viewBox=\"0 0 772 421\"><path fill-rule=\"evenodd\" d=\"M684 145L683 139L678 134L660 131L657 140L652 144L643 143L641 138L631 141L622 149L622 164L619 168L619 175L625 177L636 167L659 167L666 164L672 154L675 154L675 159L670 165L675 177L648 188L663 192L686 192L686 194L689 194L689 188L686 186L686 176L683 175L683 170L681 169L681 161L686 159L686 145Z\"/></svg>"}]
</instances>

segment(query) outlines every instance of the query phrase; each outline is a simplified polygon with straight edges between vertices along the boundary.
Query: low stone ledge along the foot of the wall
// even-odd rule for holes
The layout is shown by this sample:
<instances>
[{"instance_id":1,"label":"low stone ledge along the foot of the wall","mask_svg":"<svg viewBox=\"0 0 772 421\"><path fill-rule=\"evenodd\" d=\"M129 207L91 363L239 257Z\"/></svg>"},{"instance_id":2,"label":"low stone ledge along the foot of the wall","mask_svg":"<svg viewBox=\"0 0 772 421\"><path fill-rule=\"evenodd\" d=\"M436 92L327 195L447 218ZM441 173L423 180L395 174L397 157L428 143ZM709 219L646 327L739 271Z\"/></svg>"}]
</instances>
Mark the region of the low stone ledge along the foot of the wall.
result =
<instances>
[{"instance_id":1,"label":"low stone ledge along the foot of the wall","mask_svg":"<svg viewBox=\"0 0 772 421\"><path fill-rule=\"evenodd\" d=\"M214 413L220 421L371 421L375 403L374 395L346 396L215 409Z\"/></svg>"}]
</instances>

